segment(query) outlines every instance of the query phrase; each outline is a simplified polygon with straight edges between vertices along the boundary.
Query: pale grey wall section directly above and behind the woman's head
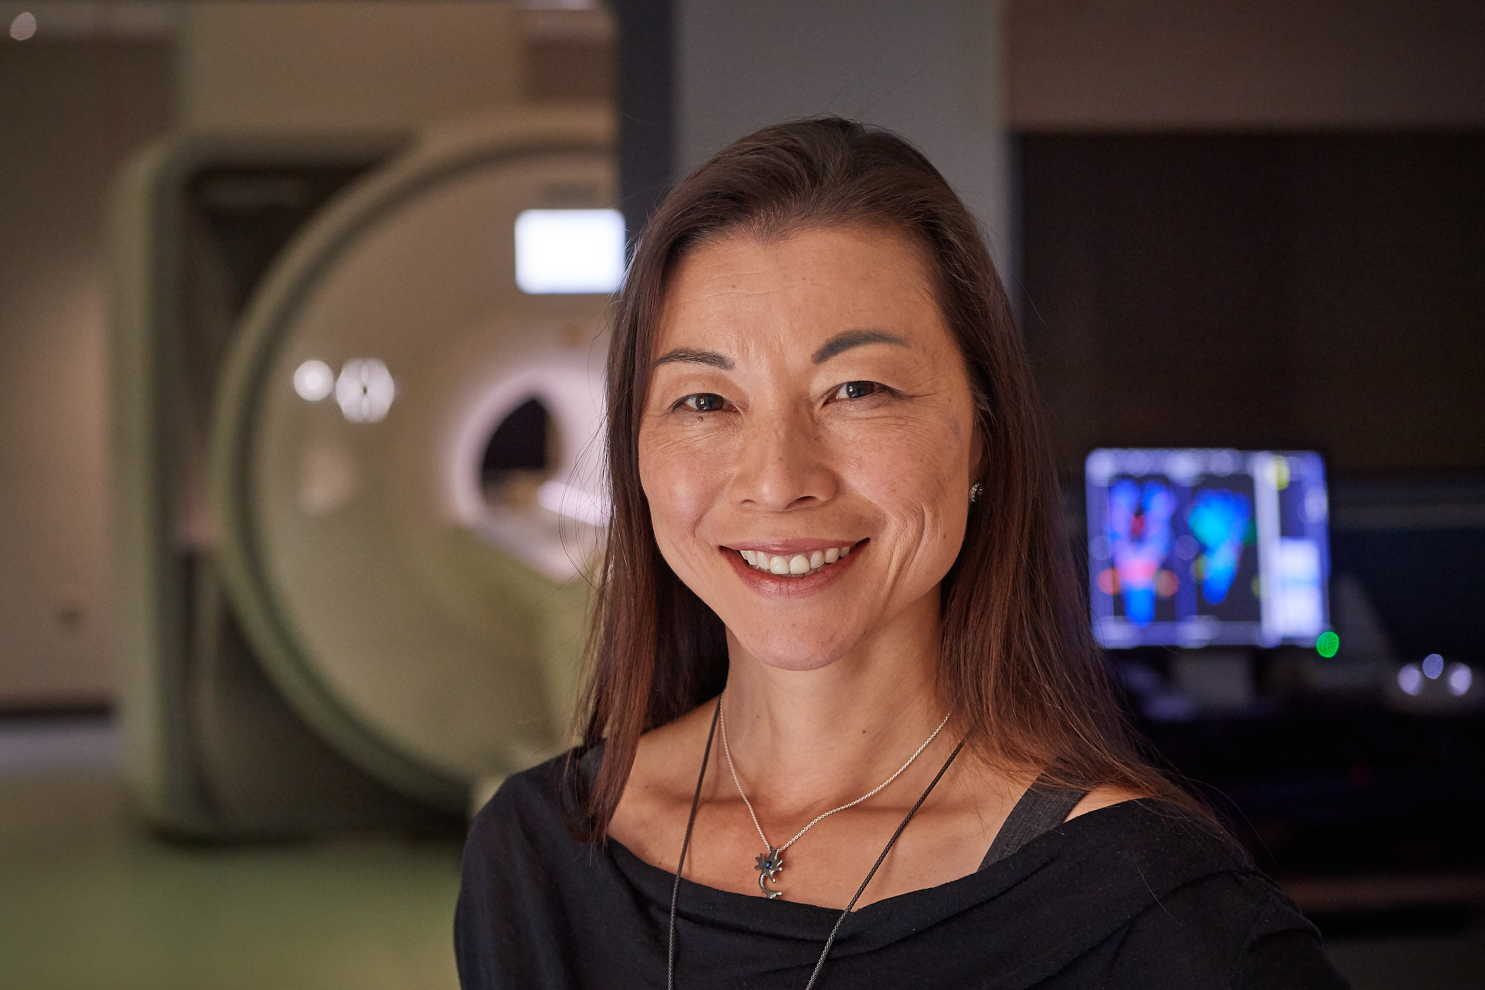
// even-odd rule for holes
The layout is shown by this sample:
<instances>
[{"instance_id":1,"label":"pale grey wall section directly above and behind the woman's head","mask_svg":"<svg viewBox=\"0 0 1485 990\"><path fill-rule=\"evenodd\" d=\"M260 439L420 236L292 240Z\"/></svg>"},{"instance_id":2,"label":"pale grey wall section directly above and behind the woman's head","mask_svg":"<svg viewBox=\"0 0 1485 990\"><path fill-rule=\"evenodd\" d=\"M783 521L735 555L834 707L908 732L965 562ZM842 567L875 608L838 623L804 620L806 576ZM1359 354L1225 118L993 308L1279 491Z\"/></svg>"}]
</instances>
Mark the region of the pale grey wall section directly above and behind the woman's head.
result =
<instances>
[{"instance_id":1,"label":"pale grey wall section directly above and behind the woman's head","mask_svg":"<svg viewBox=\"0 0 1485 990\"><path fill-rule=\"evenodd\" d=\"M676 0L676 162L835 113L912 140L1013 263L998 1ZM1011 278L1011 281L1014 281Z\"/></svg>"}]
</instances>

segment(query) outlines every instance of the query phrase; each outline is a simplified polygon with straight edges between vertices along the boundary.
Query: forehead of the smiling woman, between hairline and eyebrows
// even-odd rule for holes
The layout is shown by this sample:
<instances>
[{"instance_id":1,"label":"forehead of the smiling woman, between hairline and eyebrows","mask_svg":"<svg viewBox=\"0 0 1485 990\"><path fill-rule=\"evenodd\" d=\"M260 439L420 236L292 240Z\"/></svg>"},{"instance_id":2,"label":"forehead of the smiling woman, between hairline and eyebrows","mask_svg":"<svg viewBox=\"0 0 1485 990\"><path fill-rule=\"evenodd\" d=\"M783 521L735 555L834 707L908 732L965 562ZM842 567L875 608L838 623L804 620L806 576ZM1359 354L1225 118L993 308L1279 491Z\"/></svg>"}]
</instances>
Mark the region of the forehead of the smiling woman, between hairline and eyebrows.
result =
<instances>
[{"instance_id":1,"label":"forehead of the smiling woman, between hairline and eyebrows","mask_svg":"<svg viewBox=\"0 0 1485 990\"><path fill-rule=\"evenodd\" d=\"M676 346L812 350L842 330L949 344L922 248L872 227L734 235L686 254L667 281L655 353ZM702 340L705 338L705 340Z\"/></svg>"}]
</instances>

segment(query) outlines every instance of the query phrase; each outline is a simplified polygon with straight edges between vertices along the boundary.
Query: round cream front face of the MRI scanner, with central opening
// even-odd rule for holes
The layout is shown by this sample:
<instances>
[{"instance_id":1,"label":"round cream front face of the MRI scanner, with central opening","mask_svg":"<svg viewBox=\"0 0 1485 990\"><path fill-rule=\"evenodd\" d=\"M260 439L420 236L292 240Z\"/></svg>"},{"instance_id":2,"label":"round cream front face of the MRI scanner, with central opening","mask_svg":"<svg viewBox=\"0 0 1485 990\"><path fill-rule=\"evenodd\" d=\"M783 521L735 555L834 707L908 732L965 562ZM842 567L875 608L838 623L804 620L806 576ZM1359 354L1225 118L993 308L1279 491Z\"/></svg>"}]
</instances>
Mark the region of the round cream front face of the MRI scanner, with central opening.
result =
<instances>
[{"instance_id":1,"label":"round cream front face of the MRI scanner, with central opening","mask_svg":"<svg viewBox=\"0 0 1485 990\"><path fill-rule=\"evenodd\" d=\"M288 144L206 157L282 157ZM189 171L181 157L157 153L135 181L159 189ZM478 782L566 745L585 571L607 517L597 438L624 264L615 199L603 114L419 135L309 217L224 346L202 429L205 564L275 692L423 806L460 812ZM143 307L137 332L166 335L168 304ZM169 478L198 469L189 451L172 457ZM172 552L162 543L156 533L153 552ZM150 791L169 776L165 750L189 745L162 745L160 712L190 705L150 683L187 660L169 637L129 646L146 687L125 727L156 764L134 775ZM171 818L169 801L146 799Z\"/></svg>"}]
</instances>

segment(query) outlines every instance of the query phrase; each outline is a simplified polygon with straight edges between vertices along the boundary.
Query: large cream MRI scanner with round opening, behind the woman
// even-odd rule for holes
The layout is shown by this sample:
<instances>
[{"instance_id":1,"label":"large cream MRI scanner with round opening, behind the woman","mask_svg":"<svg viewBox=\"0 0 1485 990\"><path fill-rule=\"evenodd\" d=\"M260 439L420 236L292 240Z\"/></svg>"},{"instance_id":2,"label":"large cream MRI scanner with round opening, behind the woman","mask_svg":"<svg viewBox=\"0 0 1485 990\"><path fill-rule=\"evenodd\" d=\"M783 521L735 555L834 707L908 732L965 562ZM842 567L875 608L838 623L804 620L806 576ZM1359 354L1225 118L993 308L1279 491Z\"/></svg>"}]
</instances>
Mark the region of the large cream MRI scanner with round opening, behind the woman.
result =
<instances>
[{"instance_id":1,"label":"large cream MRI scanner with round opening, behind the woman","mask_svg":"<svg viewBox=\"0 0 1485 990\"><path fill-rule=\"evenodd\" d=\"M570 738L613 122L178 135L114 194L120 723L206 837L437 827Z\"/></svg>"}]
</instances>

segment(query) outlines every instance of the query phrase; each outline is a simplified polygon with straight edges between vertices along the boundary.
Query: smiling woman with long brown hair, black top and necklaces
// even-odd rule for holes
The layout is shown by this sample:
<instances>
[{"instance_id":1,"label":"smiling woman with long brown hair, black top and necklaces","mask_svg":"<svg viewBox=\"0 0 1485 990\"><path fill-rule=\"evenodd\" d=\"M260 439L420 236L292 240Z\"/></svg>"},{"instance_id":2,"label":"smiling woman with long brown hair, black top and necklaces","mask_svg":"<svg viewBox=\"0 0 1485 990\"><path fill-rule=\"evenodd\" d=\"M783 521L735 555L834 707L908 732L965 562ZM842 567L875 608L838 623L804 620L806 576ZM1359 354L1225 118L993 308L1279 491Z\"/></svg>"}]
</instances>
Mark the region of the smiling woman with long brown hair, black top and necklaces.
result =
<instances>
[{"instance_id":1,"label":"smiling woman with long brown hair, black top and necklaces","mask_svg":"<svg viewBox=\"0 0 1485 990\"><path fill-rule=\"evenodd\" d=\"M646 226L584 745L465 853L486 987L1342 987L1143 763L1005 294L909 144L768 128Z\"/></svg>"}]
</instances>

